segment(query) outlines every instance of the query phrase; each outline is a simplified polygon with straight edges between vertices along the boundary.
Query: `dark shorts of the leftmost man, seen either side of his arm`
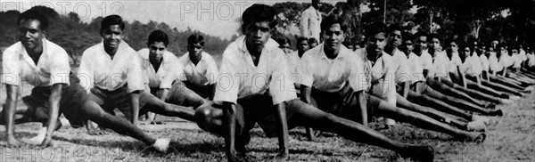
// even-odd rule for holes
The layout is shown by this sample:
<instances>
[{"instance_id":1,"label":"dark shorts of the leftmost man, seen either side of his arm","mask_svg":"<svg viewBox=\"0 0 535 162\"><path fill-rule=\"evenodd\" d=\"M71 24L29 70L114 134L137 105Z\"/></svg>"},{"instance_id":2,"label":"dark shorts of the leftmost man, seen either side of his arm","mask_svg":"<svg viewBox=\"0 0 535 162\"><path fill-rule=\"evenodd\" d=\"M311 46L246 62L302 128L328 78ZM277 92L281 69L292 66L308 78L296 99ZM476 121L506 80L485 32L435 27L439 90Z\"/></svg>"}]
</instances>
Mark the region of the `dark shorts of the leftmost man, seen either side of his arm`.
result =
<instances>
[{"instance_id":1,"label":"dark shorts of the leftmost man, seen either side of his arm","mask_svg":"<svg viewBox=\"0 0 535 162\"><path fill-rule=\"evenodd\" d=\"M70 85L62 88L62 99L60 100L60 114L63 114L73 127L84 126L84 116L79 109L87 100L86 89L78 83L78 77L71 74ZM38 122L48 120L51 89L52 86L36 86L28 96L22 97L22 101L28 106L25 117L30 117Z\"/></svg>"}]
</instances>

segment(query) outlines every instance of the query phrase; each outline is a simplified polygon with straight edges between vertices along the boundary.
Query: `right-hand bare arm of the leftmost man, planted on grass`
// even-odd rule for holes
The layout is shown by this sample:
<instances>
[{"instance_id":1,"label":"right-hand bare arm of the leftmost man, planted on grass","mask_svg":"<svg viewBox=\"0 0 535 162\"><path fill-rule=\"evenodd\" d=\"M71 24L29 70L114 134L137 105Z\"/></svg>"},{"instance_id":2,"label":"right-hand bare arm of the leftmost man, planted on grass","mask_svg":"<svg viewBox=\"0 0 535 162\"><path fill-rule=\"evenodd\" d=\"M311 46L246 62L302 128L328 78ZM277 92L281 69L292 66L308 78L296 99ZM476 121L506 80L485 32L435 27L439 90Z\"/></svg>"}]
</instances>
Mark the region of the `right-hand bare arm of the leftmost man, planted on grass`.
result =
<instances>
[{"instance_id":1,"label":"right-hand bare arm of the leftmost man, planted on grass","mask_svg":"<svg viewBox=\"0 0 535 162\"><path fill-rule=\"evenodd\" d=\"M50 98L48 99L48 126L46 126L45 141L41 143L41 146L48 147L52 142L52 133L56 128L56 122L60 115L60 101L62 100L62 87L64 84L58 83L52 85L52 91Z\"/></svg>"}]
</instances>

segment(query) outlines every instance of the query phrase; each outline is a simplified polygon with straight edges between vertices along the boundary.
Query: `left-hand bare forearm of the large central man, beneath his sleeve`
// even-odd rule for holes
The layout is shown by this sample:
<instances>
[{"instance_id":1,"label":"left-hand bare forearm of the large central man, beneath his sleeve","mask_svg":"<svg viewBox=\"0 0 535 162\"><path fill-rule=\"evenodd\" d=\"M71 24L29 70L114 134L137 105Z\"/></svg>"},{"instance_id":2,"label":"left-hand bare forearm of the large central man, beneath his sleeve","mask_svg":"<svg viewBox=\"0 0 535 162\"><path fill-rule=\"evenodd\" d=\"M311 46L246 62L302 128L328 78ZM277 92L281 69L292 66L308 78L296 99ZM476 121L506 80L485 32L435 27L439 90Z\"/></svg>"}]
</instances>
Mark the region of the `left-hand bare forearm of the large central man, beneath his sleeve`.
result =
<instances>
[{"instance_id":1,"label":"left-hand bare forearm of the large central man, beneath his sleeve","mask_svg":"<svg viewBox=\"0 0 535 162\"><path fill-rule=\"evenodd\" d=\"M234 103L223 102L223 116L223 127L226 130L224 133L226 158L228 161L235 161L236 106Z\"/></svg>"}]
</instances>

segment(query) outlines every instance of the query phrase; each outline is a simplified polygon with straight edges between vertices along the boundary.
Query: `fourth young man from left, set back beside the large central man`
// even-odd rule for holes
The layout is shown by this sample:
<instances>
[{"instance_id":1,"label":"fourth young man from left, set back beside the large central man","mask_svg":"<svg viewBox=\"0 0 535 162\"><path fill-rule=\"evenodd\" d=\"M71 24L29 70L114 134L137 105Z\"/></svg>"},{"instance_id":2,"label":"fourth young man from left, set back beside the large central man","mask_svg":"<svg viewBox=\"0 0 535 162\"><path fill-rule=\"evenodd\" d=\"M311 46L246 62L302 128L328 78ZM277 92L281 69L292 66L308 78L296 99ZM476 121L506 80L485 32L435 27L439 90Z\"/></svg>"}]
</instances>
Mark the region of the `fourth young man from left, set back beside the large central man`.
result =
<instances>
[{"instance_id":1,"label":"fourth young man from left, set back beside the large central man","mask_svg":"<svg viewBox=\"0 0 535 162\"><path fill-rule=\"evenodd\" d=\"M204 52L204 36L193 34L187 37L187 53L180 57L184 66L184 84L203 98L212 100L216 91L218 64Z\"/></svg>"}]
</instances>

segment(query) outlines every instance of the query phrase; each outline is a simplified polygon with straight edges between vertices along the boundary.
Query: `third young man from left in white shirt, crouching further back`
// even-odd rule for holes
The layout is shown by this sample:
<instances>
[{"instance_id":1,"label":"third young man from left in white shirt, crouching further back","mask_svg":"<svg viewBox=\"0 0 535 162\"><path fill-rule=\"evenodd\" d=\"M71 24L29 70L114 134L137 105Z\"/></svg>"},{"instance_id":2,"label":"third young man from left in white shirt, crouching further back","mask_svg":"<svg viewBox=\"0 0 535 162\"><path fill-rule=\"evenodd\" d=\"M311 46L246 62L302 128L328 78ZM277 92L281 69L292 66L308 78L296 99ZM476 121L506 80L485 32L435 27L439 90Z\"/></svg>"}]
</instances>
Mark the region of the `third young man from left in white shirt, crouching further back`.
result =
<instances>
[{"instance_id":1,"label":"third young man from left in white shirt, crouching further back","mask_svg":"<svg viewBox=\"0 0 535 162\"><path fill-rule=\"evenodd\" d=\"M158 97L161 101L193 108L208 102L207 99L203 99L182 83L182 80L185 80L183 66L175 54L167 51L168 45L169 36L161 30L154 30L149 35L147 42L148 48L141 49L137 52L141 57L141 67L144 77L146 77L144 78L145 91ZM184 108L176 105L173 106L176 107L174 109L164 109L164 111L158 111L158 113L194 120L193 108ZM176 113L174 111L182 111L182 113ZM155 114L148 113L148 115L151 124L161 124L154 121Z\"/></svg>"}]
</instances>

